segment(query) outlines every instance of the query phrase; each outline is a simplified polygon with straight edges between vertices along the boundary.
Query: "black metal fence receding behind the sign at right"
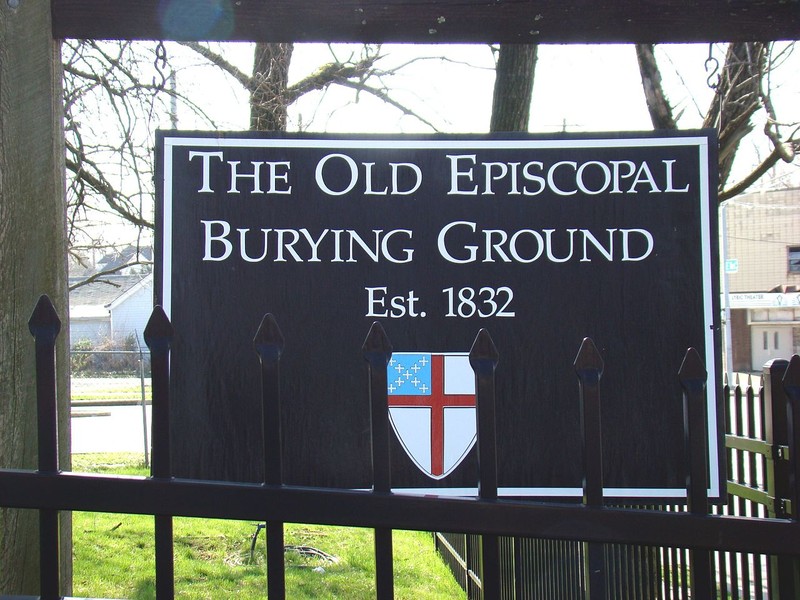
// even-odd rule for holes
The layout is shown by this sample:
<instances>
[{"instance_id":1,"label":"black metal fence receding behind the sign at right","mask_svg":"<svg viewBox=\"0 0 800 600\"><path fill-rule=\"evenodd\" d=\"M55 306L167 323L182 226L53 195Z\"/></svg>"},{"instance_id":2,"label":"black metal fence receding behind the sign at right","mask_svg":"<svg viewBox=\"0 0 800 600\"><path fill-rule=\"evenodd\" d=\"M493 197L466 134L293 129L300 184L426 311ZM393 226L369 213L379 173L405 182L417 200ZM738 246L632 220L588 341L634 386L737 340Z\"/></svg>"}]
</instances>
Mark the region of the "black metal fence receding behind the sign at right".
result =
<instances>
[{"instance_id":1,"label":"black metal fence receding behind the sign at right","mask_svg":"<svg viewBox=\"0 0 800 600\"><path fill-rule=\"evenodd\" d=\"M794 359L797 360L796 358ZM774 360L764 366L759 382L739 377L724 386L726 406L727 502L715 514L747 518L790 518L794 467L790 461L792 405L787 394L797 383L787 375L789 363ZM796 367L795 367L796 369ZM792 383L794 382L794 383ZM786 384L787 389L784 389ZM794 386L794 388L793 388ZM630 507L635 509L637 507ZM683 512L682 506L648 509ZM796 518L796 517L795 517ZM481 597L478 536L436 533L436 546L467 593ZM583 547L579 543L544 539L504 538L506 581L502 598L570 600L582 598ZM608 597L615 599L691 598L686 549L614 545L606 548ZM735 600L800 597L795 559L775 554L715 552L714 589L718 597Z\"/></svg>"}]
</instances>

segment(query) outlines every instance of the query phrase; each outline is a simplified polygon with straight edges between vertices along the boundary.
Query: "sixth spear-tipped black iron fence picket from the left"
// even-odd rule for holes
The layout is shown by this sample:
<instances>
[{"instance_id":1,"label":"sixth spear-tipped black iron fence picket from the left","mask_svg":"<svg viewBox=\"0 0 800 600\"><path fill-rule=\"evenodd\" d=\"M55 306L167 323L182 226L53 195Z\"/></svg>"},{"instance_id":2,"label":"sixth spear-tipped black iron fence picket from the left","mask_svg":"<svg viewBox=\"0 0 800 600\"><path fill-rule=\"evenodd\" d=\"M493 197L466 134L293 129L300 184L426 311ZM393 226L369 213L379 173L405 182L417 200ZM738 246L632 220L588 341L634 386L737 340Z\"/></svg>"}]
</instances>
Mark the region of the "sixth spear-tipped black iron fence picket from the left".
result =
<instances>
[{"instance_id":1,"label":"sixth spear-tipped black iron fence picket from the left","mask_svg":"<svg viewBox=\"0 0 800 600\"><path fill-rule=\"evenodd\" d=\"M575 358L580 388L581 430L583 433L583 504L603 506L603 438L600 418L600 378L603 359L591 338L584 338ZM584 585L586 597L608 597L603 544L584 544Z\"/></svg>"}]
</instances>

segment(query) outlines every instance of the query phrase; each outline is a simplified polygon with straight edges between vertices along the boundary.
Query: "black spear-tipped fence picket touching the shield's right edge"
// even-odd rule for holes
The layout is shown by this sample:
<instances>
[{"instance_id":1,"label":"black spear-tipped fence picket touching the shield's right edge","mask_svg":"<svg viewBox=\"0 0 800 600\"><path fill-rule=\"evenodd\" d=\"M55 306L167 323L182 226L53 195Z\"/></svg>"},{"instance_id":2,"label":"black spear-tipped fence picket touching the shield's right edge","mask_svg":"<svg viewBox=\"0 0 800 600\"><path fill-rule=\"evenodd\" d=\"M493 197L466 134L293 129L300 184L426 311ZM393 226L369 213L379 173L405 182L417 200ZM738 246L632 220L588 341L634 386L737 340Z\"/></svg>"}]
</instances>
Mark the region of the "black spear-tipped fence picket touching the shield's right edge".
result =
<instances>
[{"instance_id":1,"label":"black spear-tipped fence picket touching the shield's right edge","mask_svg":"<svg viewBox=\"0 0 800 600\"><path fill-rule=\"evenodd\" d=\"M481 500L497 500L497 417L494 372L498 362L489 332L481 329L469 351L475 372L475 406L478 413L478 495ZM481 537L481 588L488 600L500 598L500 538Z\"/></svg>"}]
</instances>

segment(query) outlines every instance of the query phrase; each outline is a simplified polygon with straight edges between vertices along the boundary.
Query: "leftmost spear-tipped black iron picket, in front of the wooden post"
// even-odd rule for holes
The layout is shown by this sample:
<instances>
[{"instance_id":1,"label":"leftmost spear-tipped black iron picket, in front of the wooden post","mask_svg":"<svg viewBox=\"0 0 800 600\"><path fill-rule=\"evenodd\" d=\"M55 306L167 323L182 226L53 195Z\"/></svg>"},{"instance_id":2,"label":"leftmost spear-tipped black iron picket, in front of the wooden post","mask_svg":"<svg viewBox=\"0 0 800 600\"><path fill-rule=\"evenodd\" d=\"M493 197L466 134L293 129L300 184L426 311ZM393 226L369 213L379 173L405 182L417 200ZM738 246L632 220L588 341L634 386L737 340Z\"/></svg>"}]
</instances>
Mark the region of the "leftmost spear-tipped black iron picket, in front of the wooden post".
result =
<instances>
[{"instance_id":1,"label":"leftmost spear-tipped black iron picket, in front of the wooden post","mask_svg":"<svg viewBox=\"0 0 800 600\"><path fill-rule=\"evenodd\" d=\"M41 296L28 321L36 343L36 408L40 473L58 472L56 406L56 337L61 320L53 303ZM43 600L59 598L58 511L39 511L39 593Z\"/></svg>"}]
</instances>

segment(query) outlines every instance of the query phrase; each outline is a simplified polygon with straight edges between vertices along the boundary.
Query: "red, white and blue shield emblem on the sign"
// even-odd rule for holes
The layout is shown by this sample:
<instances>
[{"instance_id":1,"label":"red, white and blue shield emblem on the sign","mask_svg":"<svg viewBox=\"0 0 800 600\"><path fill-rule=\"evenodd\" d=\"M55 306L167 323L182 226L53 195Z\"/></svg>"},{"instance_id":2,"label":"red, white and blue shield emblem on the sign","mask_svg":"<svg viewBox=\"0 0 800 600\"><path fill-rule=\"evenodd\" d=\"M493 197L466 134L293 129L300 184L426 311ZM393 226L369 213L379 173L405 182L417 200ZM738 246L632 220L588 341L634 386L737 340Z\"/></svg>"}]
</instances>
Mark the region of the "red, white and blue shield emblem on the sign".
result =
<instances>
[{"instance_id":1,"label":"red, white and blue shield emblem on the sign","mask_svg":"<svg viewBox=\"0 0 800 600\"><path fill-rule=\"evenodd\" d=\"M387 386L389 420L409 458L428 477L446 477L477 438L469 356L395 352Z\"/></svg>"}]
</instances>

